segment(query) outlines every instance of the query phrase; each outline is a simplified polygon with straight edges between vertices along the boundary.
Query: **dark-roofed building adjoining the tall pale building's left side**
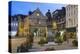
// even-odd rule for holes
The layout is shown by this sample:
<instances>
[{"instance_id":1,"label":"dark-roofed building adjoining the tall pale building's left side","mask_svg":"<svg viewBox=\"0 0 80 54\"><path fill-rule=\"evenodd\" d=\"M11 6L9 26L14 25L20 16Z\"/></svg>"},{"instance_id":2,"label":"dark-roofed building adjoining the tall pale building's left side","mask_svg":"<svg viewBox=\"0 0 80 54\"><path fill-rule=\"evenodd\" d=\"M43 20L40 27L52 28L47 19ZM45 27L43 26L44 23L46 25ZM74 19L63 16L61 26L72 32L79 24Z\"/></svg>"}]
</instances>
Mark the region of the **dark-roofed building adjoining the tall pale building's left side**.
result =
<instances>
[{"instance_id":1,"label":"dark-roofed building adjoining the tall pale building's left side","mask_svg":"<svg viewBox=\"0 0 80 54\"><path fill-rule=\"evenodd\" d=\"M53 20L57 23L57 30L63 30L65 28L65 7L62 9L57 9L52 13Z\"/></svg>"}]
</instances>

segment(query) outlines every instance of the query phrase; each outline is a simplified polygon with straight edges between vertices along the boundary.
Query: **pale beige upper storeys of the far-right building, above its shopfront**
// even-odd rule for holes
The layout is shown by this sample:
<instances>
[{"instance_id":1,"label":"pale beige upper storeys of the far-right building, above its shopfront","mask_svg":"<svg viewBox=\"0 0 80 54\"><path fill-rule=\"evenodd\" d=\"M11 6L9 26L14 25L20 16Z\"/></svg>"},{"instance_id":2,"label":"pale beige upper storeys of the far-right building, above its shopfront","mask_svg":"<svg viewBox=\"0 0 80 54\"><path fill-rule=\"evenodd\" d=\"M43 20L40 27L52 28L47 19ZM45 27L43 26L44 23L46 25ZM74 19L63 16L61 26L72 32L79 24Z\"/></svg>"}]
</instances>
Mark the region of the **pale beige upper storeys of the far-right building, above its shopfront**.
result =
<instances>
[{"instance_id":1,"label":"pale beige upper storeys of the far-right building, above its shopfront","mask_svg":"<svg viewBox=\"0 0 80 54\"><path fill-rule=\"evenodd\" d=\"M78 6L77 5L67 5L66 6L66 28L72 28L71 30L76 30L78 26Z\"/></svg>"}]
</instances>

